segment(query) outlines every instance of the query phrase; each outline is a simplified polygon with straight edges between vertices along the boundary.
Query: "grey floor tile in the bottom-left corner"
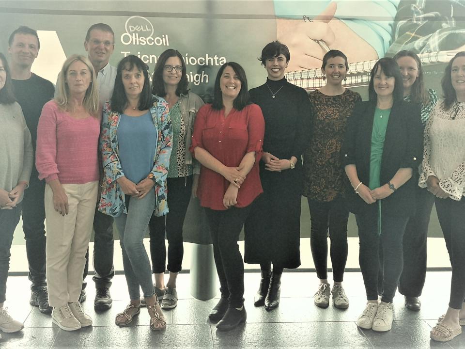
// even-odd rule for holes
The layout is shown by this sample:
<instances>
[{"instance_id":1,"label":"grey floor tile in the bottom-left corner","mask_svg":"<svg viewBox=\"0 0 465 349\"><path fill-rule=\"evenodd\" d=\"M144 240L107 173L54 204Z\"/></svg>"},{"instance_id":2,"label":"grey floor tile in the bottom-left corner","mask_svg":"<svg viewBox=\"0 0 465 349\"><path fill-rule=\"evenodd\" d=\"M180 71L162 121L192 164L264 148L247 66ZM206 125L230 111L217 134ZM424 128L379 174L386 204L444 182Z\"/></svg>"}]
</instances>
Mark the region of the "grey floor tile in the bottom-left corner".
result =
<instances>
[{"instance_id":1,"label":"grey floor tile in the bottom-left corner","mask_svg":"<svg viewBox=\"0 0 465 349\"><path fill-rule=\"evenodd\" d=\"M1 333L0 348L48 349L59 331L58 328L25 328L16 333Z\"/></svg>"}]
</instances>

